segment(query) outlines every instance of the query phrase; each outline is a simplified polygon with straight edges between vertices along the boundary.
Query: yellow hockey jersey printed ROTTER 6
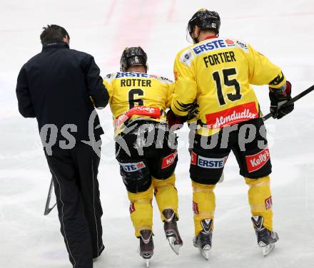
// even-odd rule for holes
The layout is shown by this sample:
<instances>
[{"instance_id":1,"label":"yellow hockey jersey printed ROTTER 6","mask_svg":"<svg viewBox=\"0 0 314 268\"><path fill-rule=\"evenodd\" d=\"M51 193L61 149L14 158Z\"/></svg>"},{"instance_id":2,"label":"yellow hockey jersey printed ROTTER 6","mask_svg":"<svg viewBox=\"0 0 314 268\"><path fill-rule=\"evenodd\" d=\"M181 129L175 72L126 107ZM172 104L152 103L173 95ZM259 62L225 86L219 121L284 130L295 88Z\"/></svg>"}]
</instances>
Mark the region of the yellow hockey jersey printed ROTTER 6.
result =
<instances>
[{"instance_id":1,"label":"yellow hockey jersey printed ROTTER 6","mask_svg":"<svg viewBox=\"0 0 314 268\"><path fill-rule=\"evenodd\" d=\"M171 105L174 83L148 73L112 73L103 79L109 93L115 135L133 120L166 123L166 108Z\"/></svg>"}]
</instances>

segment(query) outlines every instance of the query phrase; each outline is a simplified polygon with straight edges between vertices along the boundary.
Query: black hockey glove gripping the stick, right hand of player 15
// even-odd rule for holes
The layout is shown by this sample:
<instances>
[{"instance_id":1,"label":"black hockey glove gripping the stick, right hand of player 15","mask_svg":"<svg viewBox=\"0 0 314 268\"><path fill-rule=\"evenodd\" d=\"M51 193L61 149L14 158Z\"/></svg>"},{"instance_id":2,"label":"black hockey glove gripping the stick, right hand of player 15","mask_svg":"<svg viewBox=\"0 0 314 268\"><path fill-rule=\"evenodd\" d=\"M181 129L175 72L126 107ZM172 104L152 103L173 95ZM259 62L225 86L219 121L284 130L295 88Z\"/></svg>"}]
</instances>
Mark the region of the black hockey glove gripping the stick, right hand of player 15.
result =
<instances>
[{"instance_id":1,"label":"black hockey glove gripping the stick, right hand of player 15","mask_svg":"<svg viewBox=\"0 0 314 268\"><path fill-rule=\"evenodd\" d=\"M286 82L285 88L269 88L270 113L273 118L283 118L294 109L294 103L288 103L291 100L291 83Z\"/></svg>"}]
</instances>

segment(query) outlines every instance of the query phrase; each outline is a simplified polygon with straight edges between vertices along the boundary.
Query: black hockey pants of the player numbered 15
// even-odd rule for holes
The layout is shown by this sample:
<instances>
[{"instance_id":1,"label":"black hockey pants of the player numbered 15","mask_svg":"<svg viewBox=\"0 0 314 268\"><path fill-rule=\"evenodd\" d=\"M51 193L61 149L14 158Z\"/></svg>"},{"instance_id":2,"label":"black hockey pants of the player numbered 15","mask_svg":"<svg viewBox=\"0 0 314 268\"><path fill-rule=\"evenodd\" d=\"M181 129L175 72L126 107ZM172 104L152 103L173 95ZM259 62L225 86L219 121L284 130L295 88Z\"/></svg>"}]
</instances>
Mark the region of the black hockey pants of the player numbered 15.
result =
<instances>
[{"instance_id":1,"label":"black hockey pants of the player numbered 15","mask_svg":"<svg viewBox=\"0 0 314 268\"><path fill-rule=\"evenodd\" d=\"M233 128L236 129L232 130ZM250 133L249 129L255 129L255 134L252 135L252 140L246 142L245 139ZM229 135L223 138L223 132L228 133L228 130L231 130ZM191 179L201 184L216 184L223 174L223 168L231 150L236 156L241 176L258 179L270 175L272 166L265 135L266 129L262 118L228 126L214 135L203 137L203 141L208 145L211 144L212 139L217 141L213 148L203 148L202 136L196 134L193 148L190 150Z\"/></svg>"}]
</instances>

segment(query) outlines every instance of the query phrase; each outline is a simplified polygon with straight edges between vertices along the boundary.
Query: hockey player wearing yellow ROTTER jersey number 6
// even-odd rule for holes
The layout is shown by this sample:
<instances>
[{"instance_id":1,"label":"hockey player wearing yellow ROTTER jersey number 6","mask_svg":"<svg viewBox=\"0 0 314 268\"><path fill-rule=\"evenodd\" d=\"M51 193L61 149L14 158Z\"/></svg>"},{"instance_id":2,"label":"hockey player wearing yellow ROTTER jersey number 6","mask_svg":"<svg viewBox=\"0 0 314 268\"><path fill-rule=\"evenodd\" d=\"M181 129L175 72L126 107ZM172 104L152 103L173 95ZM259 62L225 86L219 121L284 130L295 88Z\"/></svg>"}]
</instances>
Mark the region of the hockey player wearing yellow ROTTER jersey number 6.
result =
<instances>
[{"instance_id":1,"label":"hockey player wearing yellow ROTTER jersey number 6","mask_svg":"<svg viewBox=\"0 0 314 268\"><path fill-rule=\"evenodd\" d=\"M146 61L141 47L126 48L121 56L121 72L108 75L104 84L113 113L116 159L131 202L131 220L136 237L140 238L140 254L150 259L153 193L166 237L176 254L183 242L176 223L176 135L169 134L165 113L171 104L173 83L167 78L149 75Z\"/></svg>"}]
</instances>

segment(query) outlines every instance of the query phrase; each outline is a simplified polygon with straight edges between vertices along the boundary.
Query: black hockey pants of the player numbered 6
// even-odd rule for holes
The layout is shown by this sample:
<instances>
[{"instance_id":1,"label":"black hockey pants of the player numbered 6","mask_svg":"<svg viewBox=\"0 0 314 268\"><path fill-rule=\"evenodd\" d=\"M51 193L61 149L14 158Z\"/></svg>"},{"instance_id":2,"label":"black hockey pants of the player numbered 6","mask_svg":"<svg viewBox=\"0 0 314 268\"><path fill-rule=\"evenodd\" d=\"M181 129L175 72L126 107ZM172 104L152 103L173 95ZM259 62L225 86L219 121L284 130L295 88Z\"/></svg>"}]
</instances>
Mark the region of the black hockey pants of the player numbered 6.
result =
<instances>
[{"instance_id":1,"label":"black hockey pants of the player numbered 6","mask_svg":"<svg viewBox=\"0 0 314 268\"><path fill-rule=\"evenodd\" d=\"M151 176L158 180L170 177L178 162L176 134L169 132L168 125L146 120L135 123L136 128L131 133L116 137L120 174L126 190L133 193L148 190ZM145 128L141 128L143 126ZM151 143L141 147L150 140L148 137L153 138ZM121 140L128 145L130 155L121 146Z\"/></svg>"}]
</instances>

